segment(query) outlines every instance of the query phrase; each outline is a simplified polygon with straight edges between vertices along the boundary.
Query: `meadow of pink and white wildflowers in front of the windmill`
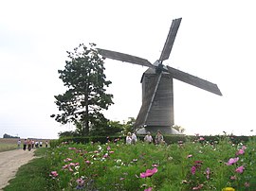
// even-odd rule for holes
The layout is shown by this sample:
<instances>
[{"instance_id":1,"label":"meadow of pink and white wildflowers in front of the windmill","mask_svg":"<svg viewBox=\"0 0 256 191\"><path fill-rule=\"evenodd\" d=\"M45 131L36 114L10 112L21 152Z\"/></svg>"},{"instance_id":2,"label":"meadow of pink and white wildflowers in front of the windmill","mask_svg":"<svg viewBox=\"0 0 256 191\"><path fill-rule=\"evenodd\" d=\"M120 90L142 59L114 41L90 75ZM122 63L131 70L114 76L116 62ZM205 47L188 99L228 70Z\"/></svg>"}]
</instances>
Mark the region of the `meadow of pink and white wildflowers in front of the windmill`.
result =
<instances>
[{"instance_id":1,"label":"meadow of pink and white wildflowers in front of the windmill","mask_svg":"<svg viewBox=\"0 0 256 191\"><path fill-rule=\"evenodd\" d=\"M50 190L256 190L256 140L171 145L64 142L46 152Z\"/></svg>"}]
</instances>

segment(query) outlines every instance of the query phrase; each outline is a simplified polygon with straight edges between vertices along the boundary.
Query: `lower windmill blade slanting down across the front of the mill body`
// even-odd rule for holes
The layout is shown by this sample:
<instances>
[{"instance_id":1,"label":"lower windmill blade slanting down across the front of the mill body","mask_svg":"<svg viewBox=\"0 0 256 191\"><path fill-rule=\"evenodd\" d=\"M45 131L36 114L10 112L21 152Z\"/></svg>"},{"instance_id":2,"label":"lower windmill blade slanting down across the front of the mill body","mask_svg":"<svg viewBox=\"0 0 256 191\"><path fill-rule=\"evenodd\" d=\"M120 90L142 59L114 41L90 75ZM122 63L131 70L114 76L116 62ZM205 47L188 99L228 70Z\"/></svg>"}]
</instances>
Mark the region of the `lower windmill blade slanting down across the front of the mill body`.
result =
<instances>
[{"instance_id":1,"label":"lower windmill blade slanting down across the front of the mill body","mask_svg":"<svg viewBox=\"0 0 256 191\"><path fill-rule=\"evenodd\" d=\"M162 77L162 73L160 73L155 78L155 81L150 84L151 86L149 87L149 91L148 91L146 97L143 99L139 113L137 114L137 119L136 119L136 123L135 123L136 128L144 126L145 122L147 121L147 118L148 118L149 112L151 110L152 103L155 98L155 93L158 88L161 77Z\"/></svg>"}]
</instances>

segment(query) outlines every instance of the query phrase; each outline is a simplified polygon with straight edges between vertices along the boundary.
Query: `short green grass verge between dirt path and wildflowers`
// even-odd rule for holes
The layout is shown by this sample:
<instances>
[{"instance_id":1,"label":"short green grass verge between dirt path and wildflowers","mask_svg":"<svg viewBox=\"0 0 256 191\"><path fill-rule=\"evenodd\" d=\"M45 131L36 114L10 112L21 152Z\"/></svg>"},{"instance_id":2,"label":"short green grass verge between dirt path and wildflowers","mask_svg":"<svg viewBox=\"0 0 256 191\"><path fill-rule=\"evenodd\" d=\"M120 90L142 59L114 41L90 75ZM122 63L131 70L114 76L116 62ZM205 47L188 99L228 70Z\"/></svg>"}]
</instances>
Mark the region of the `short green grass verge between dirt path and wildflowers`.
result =
<instances>
[{"instance_id":1,"label":"short green grass verge between dirt path and wildflowers","mask_svg":"<svg viewBox=\"0 0 256 191\"><path fill-rule=\"evenodd\" d=\"M47 148L39 148L35 155L39 158L33 159L27 165L22 165L16 177L10 180L4 191L43 191L50 190L47 185L48 164L44 158Z\"/></svg>"}]
</instances>

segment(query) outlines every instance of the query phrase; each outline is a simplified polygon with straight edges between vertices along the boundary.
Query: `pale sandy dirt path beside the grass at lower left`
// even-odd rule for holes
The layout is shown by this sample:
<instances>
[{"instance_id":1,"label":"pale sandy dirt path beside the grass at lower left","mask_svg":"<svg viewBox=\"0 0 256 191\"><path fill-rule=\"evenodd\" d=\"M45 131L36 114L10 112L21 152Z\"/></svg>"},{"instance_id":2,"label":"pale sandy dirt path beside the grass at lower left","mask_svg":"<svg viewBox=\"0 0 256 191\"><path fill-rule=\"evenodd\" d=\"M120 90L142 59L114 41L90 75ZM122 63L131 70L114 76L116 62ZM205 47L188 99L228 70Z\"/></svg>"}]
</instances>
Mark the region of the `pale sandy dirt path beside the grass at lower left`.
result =
<instances>
[{"instance_id":1,"label":"pale sandy dirt path beside the grass at lower left","mask_svg":"<svg viewBox=\"0 0 256 191\"><path fill-rule=\"evenodd\" d=\"M24 151L23 149L0 152L0 190L8 185L10 179L15 177L18 168L27 164L34 158L34 150Z\"/></svg>"}]
</instances>

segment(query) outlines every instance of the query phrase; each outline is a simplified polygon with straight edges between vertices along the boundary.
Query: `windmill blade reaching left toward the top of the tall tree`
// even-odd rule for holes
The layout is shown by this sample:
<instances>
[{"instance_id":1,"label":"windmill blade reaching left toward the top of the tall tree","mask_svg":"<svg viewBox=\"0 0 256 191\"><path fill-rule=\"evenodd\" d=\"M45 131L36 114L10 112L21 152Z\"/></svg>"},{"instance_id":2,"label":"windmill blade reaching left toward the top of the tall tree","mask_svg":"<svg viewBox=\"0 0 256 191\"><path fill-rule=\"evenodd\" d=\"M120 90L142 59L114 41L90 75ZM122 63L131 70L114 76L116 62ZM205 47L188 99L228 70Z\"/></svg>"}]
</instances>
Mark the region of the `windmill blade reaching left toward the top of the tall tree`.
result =
<instances>
[{"instance_id":1,"label":"windmill blade reaching left toward the top of the tall tree","mask_svg":"<svg viewBox=\"0 0 256 191\"><path fill-rule=\"evenodd\" d=\"M128 55L128 54L123 54L120 52L115 52L112 50L105 50L105 49L101 49L101 48L97 48L97 49L102 57L105 57L108 59L113 59L113 60L118 60L118 61L126 61L126 62L130 62L130 63L138 64L138 65L155 68L155 66L150 61L141 59L139 57L135 57L135 56Z\"/></svg>"}]
</instances>

